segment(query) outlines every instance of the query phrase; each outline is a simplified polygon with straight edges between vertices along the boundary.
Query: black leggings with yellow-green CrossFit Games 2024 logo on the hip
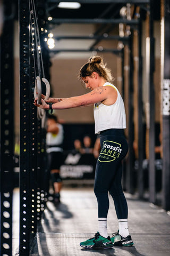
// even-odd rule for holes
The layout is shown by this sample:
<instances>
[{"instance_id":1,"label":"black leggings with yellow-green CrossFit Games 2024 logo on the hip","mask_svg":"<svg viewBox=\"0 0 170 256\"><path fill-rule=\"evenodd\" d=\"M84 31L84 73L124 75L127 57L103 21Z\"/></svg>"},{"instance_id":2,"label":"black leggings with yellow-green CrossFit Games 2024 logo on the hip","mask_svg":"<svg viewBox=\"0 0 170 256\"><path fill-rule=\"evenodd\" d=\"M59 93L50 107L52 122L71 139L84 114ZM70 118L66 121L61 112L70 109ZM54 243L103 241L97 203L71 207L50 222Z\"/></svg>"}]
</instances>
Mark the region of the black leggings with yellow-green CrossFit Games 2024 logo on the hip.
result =
<instances>
[{"instance_id":1,"label":"black leggings with yellow-green CrossFit Games 2024 logo on the hip","mask_svg":"<svg viewBox=\"0 0 170 256\"><path fill-rule=\"evenodd\" d=\"M94 191L98 202L98 217L107 218L108 191L112 195L117 219L128 219L128 205L122 190L122 159L128 152L123 129L100 133L101 151L97 160Z\"/></svg>"}]
</instances>

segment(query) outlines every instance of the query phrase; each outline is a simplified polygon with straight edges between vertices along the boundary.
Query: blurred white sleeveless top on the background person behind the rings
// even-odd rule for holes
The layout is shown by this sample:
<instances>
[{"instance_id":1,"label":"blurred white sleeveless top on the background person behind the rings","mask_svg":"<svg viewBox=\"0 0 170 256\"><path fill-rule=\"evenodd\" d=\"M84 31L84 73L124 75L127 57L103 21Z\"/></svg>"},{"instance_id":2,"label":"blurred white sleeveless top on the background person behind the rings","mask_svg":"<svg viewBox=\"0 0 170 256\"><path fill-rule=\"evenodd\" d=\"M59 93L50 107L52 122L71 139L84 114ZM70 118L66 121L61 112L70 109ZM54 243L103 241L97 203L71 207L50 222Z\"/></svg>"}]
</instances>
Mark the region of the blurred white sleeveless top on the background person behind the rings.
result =
<instances>
[{"instance_id":1,"label":"blurred white sleeveless top on the background person behind the rings","mask_svg":"<svg viewBox=\"0 0 170 256\"><path fill-rule=\"evenodd\" d=\"M46 144L47 144L47 147L50 146L50 148L47 148L47 153L63 151L63 149L61 148L61 145L64 139L64 130L61 124L57 124L57 126L59 128L59 131L57 134L54 134L52 132L47 132L46 134Z\"/></svg>"}]
</instances>

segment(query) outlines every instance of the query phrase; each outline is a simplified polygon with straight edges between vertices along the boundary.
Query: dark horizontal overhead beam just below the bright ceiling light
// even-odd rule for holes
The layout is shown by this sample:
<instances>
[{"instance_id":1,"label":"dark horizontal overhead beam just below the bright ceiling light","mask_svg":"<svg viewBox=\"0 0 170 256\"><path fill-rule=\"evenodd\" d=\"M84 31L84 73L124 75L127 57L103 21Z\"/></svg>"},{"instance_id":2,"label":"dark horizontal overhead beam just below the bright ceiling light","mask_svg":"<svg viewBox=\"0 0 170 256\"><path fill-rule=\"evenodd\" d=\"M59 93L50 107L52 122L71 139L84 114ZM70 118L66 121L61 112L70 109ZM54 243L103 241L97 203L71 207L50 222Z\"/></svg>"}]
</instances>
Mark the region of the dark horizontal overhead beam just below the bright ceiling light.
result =
<instances>
[{"instance_id":1,"label":"dark horizontal overhead beam just below the bright ceiling light","mask_svg":"<svg viewBox=\"0 0 170 256\"><path fill-rule=\"evenodd\" d=\"M58 24L58 23L111 23L111 24L119 24L125 23L127 25L138 25L139 20L126 20L126 19L53 19L50 23Z\"/></svg>"}]
</instances>

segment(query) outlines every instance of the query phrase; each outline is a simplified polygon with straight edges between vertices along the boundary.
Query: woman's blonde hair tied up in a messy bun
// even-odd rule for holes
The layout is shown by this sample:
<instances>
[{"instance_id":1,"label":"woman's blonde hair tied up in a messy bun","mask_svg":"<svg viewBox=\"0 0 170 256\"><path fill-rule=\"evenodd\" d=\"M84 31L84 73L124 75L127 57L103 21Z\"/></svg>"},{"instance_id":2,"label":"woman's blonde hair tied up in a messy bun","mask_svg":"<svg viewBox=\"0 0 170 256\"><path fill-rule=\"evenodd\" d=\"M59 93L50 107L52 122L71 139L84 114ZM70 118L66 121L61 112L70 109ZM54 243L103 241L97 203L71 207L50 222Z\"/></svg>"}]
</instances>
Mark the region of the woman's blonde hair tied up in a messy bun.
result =
<instances>
[{"instance_id":1,"label":"woman's blonde hair tied up in a messy bun","mask_svg":"<svg viewBox=\"0 0 170 256\"><path fill-rule=\"evenodd\" d=\"M81 67L79 78L91 76L93 72L96 72L99 76L105 78L107 82L111 83L114 78L112 77L111 70L106 68L106 65L107 64L104 64L102 57L94 55Z\"/></svg>"}]
</instances>

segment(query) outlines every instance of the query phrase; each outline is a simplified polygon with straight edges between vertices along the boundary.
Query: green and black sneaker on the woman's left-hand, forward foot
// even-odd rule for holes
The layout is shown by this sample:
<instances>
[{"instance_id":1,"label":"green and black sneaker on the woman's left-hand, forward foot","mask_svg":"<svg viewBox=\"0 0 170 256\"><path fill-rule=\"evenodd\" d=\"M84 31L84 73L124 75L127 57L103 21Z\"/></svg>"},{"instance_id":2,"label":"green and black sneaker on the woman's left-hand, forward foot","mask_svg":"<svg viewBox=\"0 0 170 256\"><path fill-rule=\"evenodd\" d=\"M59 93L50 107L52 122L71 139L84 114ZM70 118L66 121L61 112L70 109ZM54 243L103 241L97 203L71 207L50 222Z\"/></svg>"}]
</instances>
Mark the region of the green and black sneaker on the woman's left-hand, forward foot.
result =
<instances>
[{"instance_id":1,"label":"green and black sneaker on the woman's left-hand, forward foot","mask_svg":"<svg viewBox=\"0 0 170 256\"><path fill-rule=\"evenodd\" d=\"M80 246L84 249L109 249L113 246L111 238L100 236L100 233L97 232L95 237L88 239L85 242L81 242Z\"/></svg>"}]
</instances>

